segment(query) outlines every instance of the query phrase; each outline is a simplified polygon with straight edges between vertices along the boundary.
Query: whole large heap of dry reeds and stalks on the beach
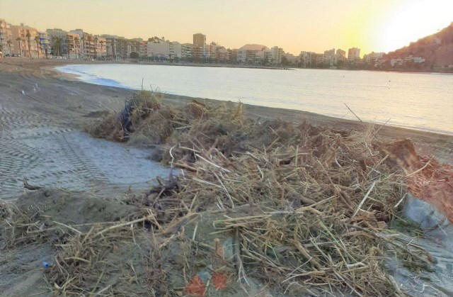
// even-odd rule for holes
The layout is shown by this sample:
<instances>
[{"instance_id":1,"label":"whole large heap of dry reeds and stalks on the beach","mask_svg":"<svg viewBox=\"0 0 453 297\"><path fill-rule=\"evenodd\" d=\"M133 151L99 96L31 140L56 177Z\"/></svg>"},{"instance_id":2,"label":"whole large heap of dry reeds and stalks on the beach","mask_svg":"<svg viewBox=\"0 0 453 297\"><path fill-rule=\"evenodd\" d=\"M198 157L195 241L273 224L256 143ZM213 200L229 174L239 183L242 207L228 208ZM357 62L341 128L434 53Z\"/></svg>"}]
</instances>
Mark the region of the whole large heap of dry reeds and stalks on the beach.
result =
<instances>
[{"instance_id":1,"label":"whole large heap of dry reeds and stalks on the beach","mask_svg":"<svg viewBox=\"0 0 453 297\"><path fill-rule=\"evenodd\" d=\"M204 284L201 292L190 279L210 267L222 276L215 288L226 283L247 291L259 279L290 296L403 296L386 257L430 268L429 254L388 229L406 194L406 172L390 162L389 145L373 128L260 123L243 116L241 103L193 101L176 109L144 91L134 102L132 134L124 135L113 116L91 133L158 146L158 159L183 175L127 198L137 207L135 220L88 232L67 228L49 279L58 293L159 296L193 289L205 296L215 290ZM205 227L194 227L200 217ZM218 259L219 238L233 242L231 259ZM120 252L129 245L137 251ZM128 265L129 257L142 257L142 265ZM122 291L124 284L133 289Z\"/></svg>"}]
</instances>

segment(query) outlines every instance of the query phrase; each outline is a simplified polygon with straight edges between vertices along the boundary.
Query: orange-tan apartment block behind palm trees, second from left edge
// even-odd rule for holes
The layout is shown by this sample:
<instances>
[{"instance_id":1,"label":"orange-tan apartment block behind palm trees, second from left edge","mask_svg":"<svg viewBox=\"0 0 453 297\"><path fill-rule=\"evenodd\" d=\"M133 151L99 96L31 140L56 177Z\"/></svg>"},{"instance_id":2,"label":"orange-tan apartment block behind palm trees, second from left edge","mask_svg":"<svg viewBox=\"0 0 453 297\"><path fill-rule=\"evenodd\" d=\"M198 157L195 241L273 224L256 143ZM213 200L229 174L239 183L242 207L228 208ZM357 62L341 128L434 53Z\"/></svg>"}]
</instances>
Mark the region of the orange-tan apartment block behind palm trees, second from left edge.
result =
<instances>
[{"instance_id":1,"label":"orange-tan apartment block behind palm trees, second from left edge","mask_svg":"<svg viewBox=\"0 0 453 297\"><path fill-rule=\"evenodd\" d=\"M22 57L38 57L38 45L35 41L36 37L39 38L38 30L25 26L23 23L20 26L10 25L10 28L11 41L14 40L18 45L14 54L21 55Z\"/></svg>"}]
</instances>

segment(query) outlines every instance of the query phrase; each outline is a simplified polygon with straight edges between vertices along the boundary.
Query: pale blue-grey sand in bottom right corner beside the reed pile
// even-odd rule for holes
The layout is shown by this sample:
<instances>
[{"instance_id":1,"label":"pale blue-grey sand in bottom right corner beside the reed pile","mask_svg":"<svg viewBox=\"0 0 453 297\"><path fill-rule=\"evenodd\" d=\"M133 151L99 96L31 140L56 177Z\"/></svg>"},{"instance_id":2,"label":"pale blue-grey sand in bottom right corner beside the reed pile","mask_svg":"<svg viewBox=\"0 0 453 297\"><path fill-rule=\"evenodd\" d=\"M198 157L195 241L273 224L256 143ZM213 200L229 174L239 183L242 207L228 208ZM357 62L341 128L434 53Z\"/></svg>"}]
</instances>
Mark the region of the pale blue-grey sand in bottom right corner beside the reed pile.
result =
<instances>
[{"instance_id":1,"label":"pale blue-grey sand in bottom right corner beside the reed pile","mask_svg":"<svg viewBox=\"0 0 453 297\"><path fill-rule=\"evenodd\" d=\"M429 203L408 195L404 214L423 231L421 236L409 235L411 245L418 245L430 252L434 259L432 271L420 273L403 267L401 263L389 261L389 268L394 273L396 283L401 291L411 296L453 296L453 226L449 220Z\"/></svg>"}]
</instances>

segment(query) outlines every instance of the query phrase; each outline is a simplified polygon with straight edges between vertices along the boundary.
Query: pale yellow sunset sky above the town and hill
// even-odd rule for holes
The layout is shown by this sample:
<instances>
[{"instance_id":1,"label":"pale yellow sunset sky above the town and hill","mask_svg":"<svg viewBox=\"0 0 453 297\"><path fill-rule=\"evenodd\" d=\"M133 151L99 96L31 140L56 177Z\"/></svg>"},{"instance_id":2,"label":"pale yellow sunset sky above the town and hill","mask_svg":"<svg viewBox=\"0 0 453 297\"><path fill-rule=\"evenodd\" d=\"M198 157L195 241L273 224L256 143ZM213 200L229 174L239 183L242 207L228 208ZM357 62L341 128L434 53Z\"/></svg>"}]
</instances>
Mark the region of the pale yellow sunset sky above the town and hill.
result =
<instances>
[{"instance_id":1,"label":"pale yellow sunset sky above the town and hill","mask_svg":"<svg viewBox=\"0 0 453 297\"><path fill-rule=\"evenodd\" d=\"M193 33L224 47L246 43L323 52L389 52L453 21L453 0L0 0L0 18L38 30L81 28L125 38Z\"/></svg>"}]
</instances>

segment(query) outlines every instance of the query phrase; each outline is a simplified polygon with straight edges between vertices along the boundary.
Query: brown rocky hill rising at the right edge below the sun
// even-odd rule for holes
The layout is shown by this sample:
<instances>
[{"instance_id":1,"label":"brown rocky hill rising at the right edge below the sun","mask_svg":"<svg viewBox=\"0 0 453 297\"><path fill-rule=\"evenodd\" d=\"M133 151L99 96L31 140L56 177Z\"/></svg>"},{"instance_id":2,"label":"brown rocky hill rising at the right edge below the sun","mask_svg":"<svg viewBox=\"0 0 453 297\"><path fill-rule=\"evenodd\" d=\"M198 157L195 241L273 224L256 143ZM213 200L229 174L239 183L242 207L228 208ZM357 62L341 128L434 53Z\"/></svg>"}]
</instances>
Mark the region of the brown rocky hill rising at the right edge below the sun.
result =
<instances>
[{"instance_id":1,"label":"brown rocky hill rising at the right edge below the sun","mask_svg":"<svg viewBox=\"0 0 453 297\"><path fill-rule=\"evenodd\" d=\"M439 32L420 38L406 47L386 55L387 59L423 57L424 67L449 67L453 65L453 23Z\"/></svg>"}]
</instances>

